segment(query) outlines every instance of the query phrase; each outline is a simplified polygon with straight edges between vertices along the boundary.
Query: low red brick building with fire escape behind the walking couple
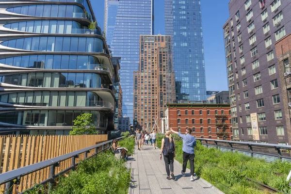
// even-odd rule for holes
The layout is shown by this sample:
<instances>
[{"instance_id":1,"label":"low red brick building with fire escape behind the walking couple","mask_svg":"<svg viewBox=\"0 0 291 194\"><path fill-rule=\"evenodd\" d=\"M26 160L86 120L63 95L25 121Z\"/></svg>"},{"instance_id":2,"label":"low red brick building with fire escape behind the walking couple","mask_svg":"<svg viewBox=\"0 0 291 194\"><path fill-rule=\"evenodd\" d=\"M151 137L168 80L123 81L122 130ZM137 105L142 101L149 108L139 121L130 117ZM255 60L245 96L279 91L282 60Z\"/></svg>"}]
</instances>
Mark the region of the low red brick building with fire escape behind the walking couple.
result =
<instances>
[{"instance_id":1,"label":"low red brick building with fire escape behind the walking couple","mask_svg":"<svg viewBox=\"0 0 291 194\"><path fill-rule=\"evenodd\" d=\"M195 137L231 140L230 117L230 104L167 104L165 129L191 128Z\"/></svg>"}]
</instances>

